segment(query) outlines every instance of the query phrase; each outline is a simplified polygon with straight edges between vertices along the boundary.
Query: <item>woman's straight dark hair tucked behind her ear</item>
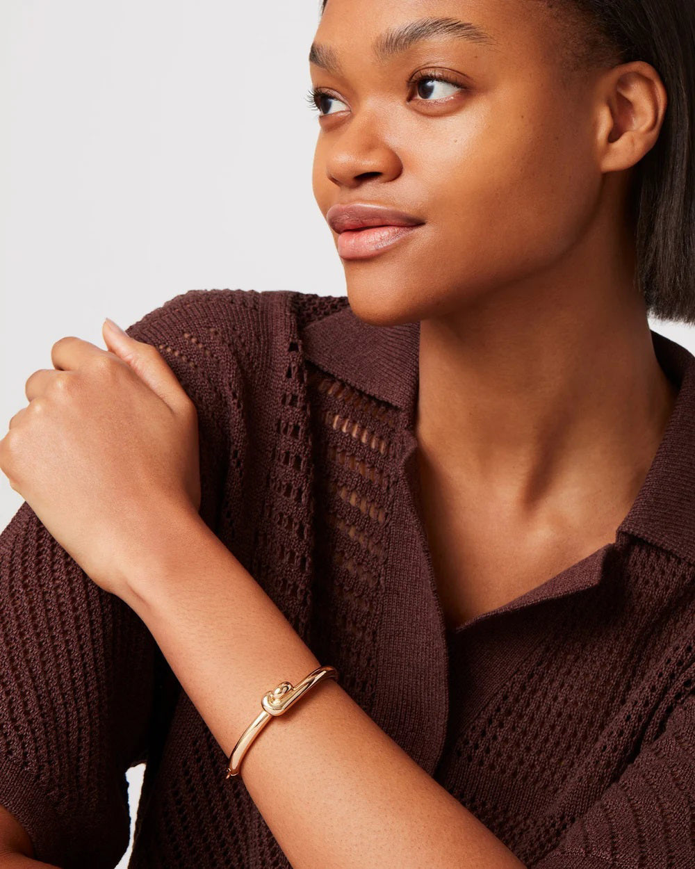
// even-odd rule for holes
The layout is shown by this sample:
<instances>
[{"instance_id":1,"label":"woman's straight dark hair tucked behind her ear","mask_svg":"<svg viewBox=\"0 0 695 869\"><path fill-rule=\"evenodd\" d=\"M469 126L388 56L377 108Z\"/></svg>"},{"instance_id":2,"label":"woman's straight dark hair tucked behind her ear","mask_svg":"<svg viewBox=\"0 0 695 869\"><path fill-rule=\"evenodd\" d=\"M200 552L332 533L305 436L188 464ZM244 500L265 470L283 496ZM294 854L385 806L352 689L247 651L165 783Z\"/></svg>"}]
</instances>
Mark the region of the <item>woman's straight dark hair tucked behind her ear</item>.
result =
<instances>
[{"instance_id":1,"label":"woman's straight dark hair tucked behind her ear","mask_svg":"<svg viewBox=\"0 0 695 869\"><path fill-rule=\"evenodd\" d=\"M643 60L668 105L659 139L634 167L628 216L636 289L647 313L695 325L695 3L692 0L534 0L562 23L573 69ZM321 12L328 0L321 0Z\"/></svg>"}]
</instances>

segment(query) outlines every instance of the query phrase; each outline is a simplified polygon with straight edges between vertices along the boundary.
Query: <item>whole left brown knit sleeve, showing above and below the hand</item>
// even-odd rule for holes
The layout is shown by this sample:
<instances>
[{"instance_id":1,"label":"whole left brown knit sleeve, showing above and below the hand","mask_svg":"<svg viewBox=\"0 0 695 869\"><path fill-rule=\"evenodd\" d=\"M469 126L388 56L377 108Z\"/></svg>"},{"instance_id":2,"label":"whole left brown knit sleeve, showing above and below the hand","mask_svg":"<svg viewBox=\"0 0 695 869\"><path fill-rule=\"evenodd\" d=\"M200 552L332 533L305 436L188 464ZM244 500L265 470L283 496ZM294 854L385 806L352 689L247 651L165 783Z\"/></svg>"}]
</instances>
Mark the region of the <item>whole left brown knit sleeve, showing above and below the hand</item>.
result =
<instances>
[{"instance_id":1,"label":"whole left brown knit sleeve, showing above and below the hand","mask_svg":"<svg viewBox=\"0 0 695 869\"><path fill-rule=\"evenodd\" d=\"M235 292L243 311L245 291ZM159 349L194 401L210 527L239 457L231 438L241 441L243 383L225 349L243 340L225 313L238 297L191 290L127 329ZM36 859L116 866L129 844L125 773L153 743L158 750L159 687L172 681L180 689L144 622L90 580L24 502L0 534L0 805L26 829ZM170 702L169 691L161 696Z\"/></svg>"}]
</instances>

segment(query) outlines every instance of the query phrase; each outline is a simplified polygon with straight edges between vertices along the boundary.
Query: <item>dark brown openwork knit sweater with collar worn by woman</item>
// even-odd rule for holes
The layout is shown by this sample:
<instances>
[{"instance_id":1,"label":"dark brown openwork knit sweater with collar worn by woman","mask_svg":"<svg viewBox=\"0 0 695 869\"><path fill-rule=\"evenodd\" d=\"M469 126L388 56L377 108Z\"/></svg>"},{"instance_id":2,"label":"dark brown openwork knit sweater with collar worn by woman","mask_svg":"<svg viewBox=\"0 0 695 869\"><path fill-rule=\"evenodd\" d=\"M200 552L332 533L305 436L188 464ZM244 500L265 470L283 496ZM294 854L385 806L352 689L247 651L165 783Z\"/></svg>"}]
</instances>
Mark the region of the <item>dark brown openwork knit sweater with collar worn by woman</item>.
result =
<instances>
[{"instance_id":1,"label":"dark brown openwork knit sweater with collar worn by woman","mask_svg":"<svg viewBox=\"0 0 695 869\"><path fill-rule=\"evenodd\" d=\"M695 357L652 332L678 399L615 542L447 631L418 322L215 289L128 331L195 401L204 520L427 773L533 869L695 866ZM0 605L0 804L37 859L115 866L146 761L130 869L289 866L142 620L26 503L0 535Z\"/></svg>"}]
</instances>

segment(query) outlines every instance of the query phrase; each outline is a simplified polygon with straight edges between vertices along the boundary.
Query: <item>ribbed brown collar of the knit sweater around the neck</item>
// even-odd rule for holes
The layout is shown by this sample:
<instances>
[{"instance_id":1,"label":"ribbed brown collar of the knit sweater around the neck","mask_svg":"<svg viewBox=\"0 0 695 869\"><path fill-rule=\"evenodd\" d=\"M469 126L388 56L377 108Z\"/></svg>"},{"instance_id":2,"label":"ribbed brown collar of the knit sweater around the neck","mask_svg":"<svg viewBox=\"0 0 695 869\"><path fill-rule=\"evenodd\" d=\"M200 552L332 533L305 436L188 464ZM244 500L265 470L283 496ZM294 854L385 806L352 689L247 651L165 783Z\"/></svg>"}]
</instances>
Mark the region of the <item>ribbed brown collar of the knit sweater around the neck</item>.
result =
<instances>
[{"instance_id":1,"label":"ribbed brown collar of the knit sweater around the neck","mask_svg":"<svg viewBox=\"0 0 695 869\"><path fill-rule=\"evenodd\" d=\"M347 297L346 297L347 302ZM678 387L652 465L618 533L695 563L695 356L653 329L654 353ZM374 326L344 308L308 324L304 354L319 368L405 411L412 432L418 395L420 322ZM617 535L618 536L618 535Z\"/></svg>"}]
</instances>

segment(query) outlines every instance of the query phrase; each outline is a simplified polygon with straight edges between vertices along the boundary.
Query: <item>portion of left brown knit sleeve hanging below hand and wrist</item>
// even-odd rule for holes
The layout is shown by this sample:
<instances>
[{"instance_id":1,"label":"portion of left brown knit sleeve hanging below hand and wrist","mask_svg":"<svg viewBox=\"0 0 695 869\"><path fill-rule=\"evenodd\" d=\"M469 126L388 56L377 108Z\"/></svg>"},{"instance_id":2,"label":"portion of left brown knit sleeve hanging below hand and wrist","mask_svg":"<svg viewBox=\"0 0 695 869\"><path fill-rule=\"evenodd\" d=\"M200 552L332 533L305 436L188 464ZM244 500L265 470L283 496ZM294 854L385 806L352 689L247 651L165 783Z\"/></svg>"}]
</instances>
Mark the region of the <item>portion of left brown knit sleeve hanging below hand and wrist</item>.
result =
<instances>
[{"instance_id":1,"label":"portion of left brown knit sleeve hanging below hand and wrist","mask_svg":"<svg viewBox=\"0 0 695 869\"><path fill-rule=\"evenodd\" d=\"M23 502L0 534L0 804L44 862L112 867L144 759L154 640Z\"/></svg>"}]
</instances>

